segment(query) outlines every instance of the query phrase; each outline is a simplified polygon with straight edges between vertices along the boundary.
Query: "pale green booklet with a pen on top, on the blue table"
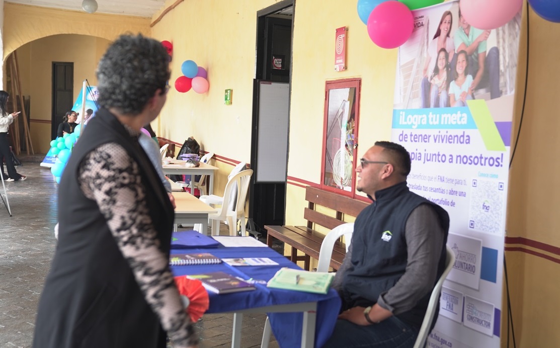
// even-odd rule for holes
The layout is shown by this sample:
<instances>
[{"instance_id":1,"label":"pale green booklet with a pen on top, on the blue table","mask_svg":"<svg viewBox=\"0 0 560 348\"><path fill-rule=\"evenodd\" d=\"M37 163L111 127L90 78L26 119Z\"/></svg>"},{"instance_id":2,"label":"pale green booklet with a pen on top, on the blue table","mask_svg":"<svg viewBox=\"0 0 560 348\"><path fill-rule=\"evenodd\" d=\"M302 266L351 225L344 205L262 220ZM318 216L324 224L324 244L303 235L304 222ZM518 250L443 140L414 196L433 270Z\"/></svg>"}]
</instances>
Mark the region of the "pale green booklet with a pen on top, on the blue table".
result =
<instances>
[{"instance_id":1,"label":"pale green booklet with a pen on top, on the blue table","mask_svg":"<svg viewBox=\"0 0 560 348\"><path fill-rule=\"evenodd\" d=\"M306 293L326 294L333 282L334 273L309 272L283 267L268 281L268 287Z\"/></svg>"}]
</instances>

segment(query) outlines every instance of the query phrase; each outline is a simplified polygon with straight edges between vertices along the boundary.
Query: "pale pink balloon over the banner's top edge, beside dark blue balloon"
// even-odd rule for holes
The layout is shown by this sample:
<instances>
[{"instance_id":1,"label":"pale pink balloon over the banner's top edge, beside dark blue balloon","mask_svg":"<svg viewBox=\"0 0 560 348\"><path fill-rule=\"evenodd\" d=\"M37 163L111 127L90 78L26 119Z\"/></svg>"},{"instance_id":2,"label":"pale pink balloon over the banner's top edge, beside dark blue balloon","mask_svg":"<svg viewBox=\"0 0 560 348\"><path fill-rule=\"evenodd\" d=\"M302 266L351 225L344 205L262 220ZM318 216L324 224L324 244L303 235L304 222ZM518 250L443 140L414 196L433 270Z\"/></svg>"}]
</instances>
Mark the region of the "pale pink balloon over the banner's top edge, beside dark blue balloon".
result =
<instances>
[{"instance_id":1,"label":"pale pink balloon over the banner's top edge, beside dark blue balloon","mask_svg":"<svg viewBox=\"0 0 560 348\"><path fill-rule=\"evenodd\" d=\"M461 0L461 16L477 29L501 27L521 11L523 0Z\"/></svg>"}]
</instances>

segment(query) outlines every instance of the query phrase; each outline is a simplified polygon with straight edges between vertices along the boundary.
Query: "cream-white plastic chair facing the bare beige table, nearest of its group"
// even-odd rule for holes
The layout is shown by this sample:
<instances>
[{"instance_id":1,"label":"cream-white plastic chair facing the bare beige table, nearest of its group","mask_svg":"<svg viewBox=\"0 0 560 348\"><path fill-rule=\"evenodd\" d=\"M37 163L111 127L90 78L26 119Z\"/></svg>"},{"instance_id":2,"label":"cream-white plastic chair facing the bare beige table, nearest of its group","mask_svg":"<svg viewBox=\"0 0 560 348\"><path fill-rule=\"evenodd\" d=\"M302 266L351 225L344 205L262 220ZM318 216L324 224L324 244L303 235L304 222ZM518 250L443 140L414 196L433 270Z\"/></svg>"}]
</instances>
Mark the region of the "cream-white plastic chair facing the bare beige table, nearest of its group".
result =
<instances>
[{"instance_id":1,"label":"cream-white plastic chair facing the bare beige table, nearest of its group","mask_svg":"<svg viewBox=\"0 0 560 348\"><path fill-rule=\"evenodd\" d=\"M208 214L208 219L212 220L212 235L220 235L220 221L227 221L230 226L230 235L235 236L237 220L241 221L241 235L245 235L245 199L249 191L249 182L253 175L253 170L246 169L235 174L226 184L223 194L223 203L216 214ZM231 195L235 187L239 187L235 196ZM230 209L230 200L235 199L234 209ZM202 199L201 199L202 201ZM195 230L200 231L200 224L195 226Z\"/></svg>"}]
</instances>

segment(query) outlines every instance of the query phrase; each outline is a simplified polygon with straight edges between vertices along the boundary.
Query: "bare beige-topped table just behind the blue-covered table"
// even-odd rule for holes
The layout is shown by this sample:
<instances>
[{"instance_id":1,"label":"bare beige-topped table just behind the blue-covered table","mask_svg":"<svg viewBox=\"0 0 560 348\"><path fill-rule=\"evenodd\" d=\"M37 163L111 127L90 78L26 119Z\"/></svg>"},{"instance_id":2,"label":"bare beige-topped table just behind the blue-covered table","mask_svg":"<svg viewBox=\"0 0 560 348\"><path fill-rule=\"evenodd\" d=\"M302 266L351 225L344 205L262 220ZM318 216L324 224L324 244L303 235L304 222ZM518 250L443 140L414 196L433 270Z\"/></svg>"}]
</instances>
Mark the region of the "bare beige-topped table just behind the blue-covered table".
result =
<instances>
[{"instance_id":1,"label":"bare beige-topped table just behind the blue-covered table","mask_svg":"<svg viewBox=\"0 0 560 348\"><path fill-rule=\"evenodd\" d=\"M173 192L172 194L176 206L174 224L202 224L200 232L207 234L208 214L215 213L216 209L188 192Z\"/></svg>"}]
</instances>

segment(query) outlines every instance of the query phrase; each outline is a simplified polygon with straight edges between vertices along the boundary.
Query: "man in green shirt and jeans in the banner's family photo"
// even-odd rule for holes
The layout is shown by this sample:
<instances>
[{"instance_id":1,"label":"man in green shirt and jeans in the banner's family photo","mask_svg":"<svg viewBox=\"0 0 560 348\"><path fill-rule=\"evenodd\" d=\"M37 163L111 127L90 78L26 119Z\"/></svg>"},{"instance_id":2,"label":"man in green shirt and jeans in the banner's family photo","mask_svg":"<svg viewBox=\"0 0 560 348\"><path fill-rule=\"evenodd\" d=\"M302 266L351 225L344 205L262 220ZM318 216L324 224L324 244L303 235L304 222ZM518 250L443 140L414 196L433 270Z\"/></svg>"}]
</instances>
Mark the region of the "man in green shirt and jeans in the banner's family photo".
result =
<instances>
[{"instance_id":1,"label":"man in green shirt and jeans in the banner's family photo","mask_svg":"<svg viewBox=\"0 0 560 348\"><path fill-rule=\"evenodd\" d=\"M459 10L459 27L455 31L455 50L465 50L469 56L469 74L473 76L470 85L474 91L480 87L489 87L490 99L498 98L500 92L500 52L492 47L486 53L486 40L490 30L481 30L471 26ZM451 71L455 62L451 62Z\"/></svg>"}]
</instances>

